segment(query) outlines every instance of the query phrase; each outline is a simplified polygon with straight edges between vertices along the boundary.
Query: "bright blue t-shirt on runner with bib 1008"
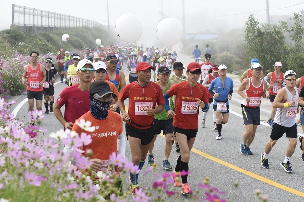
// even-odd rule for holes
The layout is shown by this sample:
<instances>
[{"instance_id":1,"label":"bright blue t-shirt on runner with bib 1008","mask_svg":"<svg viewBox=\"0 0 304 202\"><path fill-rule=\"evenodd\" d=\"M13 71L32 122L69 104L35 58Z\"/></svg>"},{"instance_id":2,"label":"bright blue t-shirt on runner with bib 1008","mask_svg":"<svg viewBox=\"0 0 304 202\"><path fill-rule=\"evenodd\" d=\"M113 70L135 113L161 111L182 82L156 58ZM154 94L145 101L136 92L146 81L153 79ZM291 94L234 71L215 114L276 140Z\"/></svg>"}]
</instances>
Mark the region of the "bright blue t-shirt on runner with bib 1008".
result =
<instances>
[{"instance_id":1,"label":"bright blue t-shirt on runner with bib 1008","mask_svg":"<svg viewBox=\"0 0 304 202\"><path fill-rule=\"evenodd\" d=\"M216 77L210 83L208 90L209 92L212 92L213 89L213 94L219 93L219 97L214 98L213 104L216 105L217 101L223 103L227 100L226 105L229 105L228 94L232 95L233 93L233 80L226 76L225 87L223 87L222 80L220 79L220 77Z\"/></svg>"}]
</instances>

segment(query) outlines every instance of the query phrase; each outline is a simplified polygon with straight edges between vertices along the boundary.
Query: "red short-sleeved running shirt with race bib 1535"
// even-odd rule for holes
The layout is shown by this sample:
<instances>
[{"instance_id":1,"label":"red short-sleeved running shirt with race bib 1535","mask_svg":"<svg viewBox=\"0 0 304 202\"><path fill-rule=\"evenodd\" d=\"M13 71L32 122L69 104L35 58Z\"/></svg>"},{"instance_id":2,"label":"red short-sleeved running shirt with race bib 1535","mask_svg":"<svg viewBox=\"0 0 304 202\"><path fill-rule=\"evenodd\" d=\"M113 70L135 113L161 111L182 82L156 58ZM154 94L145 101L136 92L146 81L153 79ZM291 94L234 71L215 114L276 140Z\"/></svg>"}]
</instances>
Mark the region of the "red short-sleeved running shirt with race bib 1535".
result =
<instances>
[{"instance_id":1,"label":"red short-sleeved running shirt with race bib 1535","mask_svg":"<svg viewBox=\"0 0 304 202\"><path fill-rule=\"evenodd\" d=\"M207 89L200 83L190 87L188 81L183 81L171 86L167 91L169 96L175 97L175 116L173 126L182 129L196 129L199 124L199 106L197 101L200 99L208 103Z\"/></svg>"}]
</instances>

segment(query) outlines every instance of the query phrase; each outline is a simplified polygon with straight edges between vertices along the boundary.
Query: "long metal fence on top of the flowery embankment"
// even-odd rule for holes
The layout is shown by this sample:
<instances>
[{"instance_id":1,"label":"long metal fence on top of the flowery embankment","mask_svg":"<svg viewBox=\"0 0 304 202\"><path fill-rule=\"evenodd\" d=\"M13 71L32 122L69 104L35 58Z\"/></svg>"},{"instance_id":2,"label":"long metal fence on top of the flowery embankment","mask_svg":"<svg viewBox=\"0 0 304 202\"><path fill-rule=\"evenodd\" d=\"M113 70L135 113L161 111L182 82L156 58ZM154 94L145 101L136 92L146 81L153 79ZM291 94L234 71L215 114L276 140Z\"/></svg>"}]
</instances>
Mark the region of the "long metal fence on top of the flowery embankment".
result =
<instances>
[{"instance_id":1,"label":"long metal fence on top of the flowery embankment","mask_svg":"<svg viewBox=\"0 0 304 202\"><path fill-rule=\"evenodd\" d=\"M13 4L12 25L71 28L94 27L101 24L93 20Z\"/></svg>"}]
</instances>

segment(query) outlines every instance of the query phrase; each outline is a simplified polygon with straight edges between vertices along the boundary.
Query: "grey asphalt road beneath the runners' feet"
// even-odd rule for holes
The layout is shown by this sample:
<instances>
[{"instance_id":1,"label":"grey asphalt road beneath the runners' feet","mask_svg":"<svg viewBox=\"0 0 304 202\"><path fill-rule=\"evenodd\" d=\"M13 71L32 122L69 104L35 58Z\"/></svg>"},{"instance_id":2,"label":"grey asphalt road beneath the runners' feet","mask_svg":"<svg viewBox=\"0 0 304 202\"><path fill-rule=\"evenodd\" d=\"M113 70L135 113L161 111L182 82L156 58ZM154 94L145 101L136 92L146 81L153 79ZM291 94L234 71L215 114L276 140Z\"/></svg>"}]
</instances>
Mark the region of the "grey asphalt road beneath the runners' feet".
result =
<instances>
[{"instance_id":1,"label":"grey asphalt road beneath the runners' feet","mask_svg":"<svg viewBox=\"0 0 304 202\"><path fill-rule=\"evenodd\" d=\"M59 96L59 93L65 87L64 83L58 83L55 86L55 98ZM26 99L26 95L20 96L17 103L12 106L12 109L22 103L24 99ZM127 104L127 101L125 103ZM22 105L17 117L20 119L25 117L28 120L27 107L27 103ZM45 110L44 106L43 110ZM270 153L270 169L264 169L261 167L260 155L264 152L265 144L270 138L271 128L265 125L258 126L255 140L250 146L254 154L243 155L240 153L240 143L245 127L243 126L243 118L239 116L241 114L240 106L230 104L230 110L235 113L230 113L229 122L223 125L222 140L216 140L217 133L211 130L213 122L211 111L206 118L206 128L199 127L189 162L189 170L192 174L188 176L188 182L192 190L200 190L197 184L203 183L205 177L209 177L210 185L217 187L220 191L225 191L226 194L223 197L227 200L232 200L234 196L234 201L257 201L254 192L259 189L262 194L266 194L269 197L269 201L304 201L302 198L304 197L304 162L300 159L302 151L299 148L299 141L291 158L292 169L294 170L292 174L285 173L279 165L285 157L285 150L288 146L288 139L284 136L279 139ZM64 107L62 112L64 113ZM202 113L199 115L199 120L201 119ZM266 118L262 117L262 121L266 123ZM42 126L47 129L47 133L43 136L44 138L49 138L48 135L51 132L63 128L53 113L46 115ZM144 175L143 173L149 167L147 163L144 165L139 176L140 187L152 187L153 180L157 179L155 173L171 172L164 170L161 166L164 145L164 137L158 136L154 147L157 169ZM169 158L172 167L175 167L179 155L172 149ZM128 142L126 143L126 158L131 160ZM129 176L123 177L125 189L128 188L128 178ZM236 192L233 186L234 182L239 183ZM180 192L180 189L180 187L173 188L174 191L178 192ZM152 197L156 196L157 191L152 188ZM165 197L165 201L184 201L187 198L188 196L181 196L177 199Z\"/></svg>"}]
</instances>

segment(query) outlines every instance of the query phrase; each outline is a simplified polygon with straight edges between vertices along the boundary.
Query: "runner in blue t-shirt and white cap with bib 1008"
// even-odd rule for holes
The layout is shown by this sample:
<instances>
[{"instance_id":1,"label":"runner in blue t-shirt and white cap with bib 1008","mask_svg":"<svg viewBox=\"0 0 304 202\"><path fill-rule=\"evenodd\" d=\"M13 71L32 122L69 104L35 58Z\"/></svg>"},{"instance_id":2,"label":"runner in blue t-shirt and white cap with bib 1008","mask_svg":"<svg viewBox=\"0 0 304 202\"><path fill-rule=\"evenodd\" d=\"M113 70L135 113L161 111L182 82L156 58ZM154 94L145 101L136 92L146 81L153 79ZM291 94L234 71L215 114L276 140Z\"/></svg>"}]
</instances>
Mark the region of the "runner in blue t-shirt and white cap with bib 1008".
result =
<instances>
[{"instance_id":1,"label":"runner in blue t-shirt and white cap with bib 1008","mask_svg":"<svg viewBox=\"0 0 304 202\"><path fill-rule=\"evenodd\" d=\"M219 77L213 79L209 86L209 93L213 95L213 109L216 115L216 140L222 139L222 124L228 122L229 119L229 101L233 93L233 80L227 74L226 65L220 65L218 68ZM214 92L213 92L214 89ZM223 118L222 118L223 116Z\"/></svg>"}]
</instances>

